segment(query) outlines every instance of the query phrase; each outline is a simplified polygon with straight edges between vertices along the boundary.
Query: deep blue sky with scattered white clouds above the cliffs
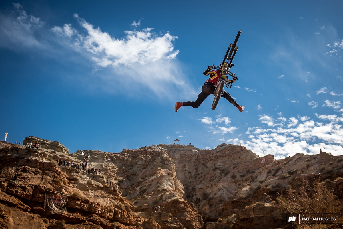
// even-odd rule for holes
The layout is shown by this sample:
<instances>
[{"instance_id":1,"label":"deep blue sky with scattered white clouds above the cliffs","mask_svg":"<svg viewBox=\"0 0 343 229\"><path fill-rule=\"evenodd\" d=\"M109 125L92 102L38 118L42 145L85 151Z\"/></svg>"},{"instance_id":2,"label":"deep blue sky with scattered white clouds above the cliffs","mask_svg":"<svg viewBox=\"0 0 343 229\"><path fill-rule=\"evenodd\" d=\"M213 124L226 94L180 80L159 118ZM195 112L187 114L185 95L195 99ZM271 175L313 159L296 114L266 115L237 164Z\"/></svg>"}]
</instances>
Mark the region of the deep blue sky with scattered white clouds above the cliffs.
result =
<instances>
[{"instance_id":1,"label":"deep blue sky with scattered white clouds above the cliffs","mask_svg":"<svg viewBox=\"0 0 343 229\"><path fill-rule=\"evenodd\" d=\"M0 137L120 152L241 144L259 156L343 153L342 1L2 1ZM245 110L194 101L238 30ZM342 102L341 102L342 101Z\"/></svg>"}]
</instances>

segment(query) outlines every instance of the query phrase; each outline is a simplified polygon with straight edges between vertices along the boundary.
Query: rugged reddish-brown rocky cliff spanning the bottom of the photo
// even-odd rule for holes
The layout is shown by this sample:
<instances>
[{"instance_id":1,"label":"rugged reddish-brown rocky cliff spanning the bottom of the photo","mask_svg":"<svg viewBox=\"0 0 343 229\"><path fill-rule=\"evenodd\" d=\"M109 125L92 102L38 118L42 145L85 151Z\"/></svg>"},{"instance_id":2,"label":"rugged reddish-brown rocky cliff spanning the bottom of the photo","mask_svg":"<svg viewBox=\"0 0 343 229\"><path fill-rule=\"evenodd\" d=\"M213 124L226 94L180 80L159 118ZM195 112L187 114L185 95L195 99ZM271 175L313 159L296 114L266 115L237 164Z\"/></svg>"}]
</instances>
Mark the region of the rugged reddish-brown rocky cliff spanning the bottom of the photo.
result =
<instances>
[{"instance_id":1,"label":"rugged reddish-brown rocky cliff spanning the bottom of the photo","mask_svg":"<svg viewBox=\"0 0 343 229\"><path fill-rule=\"evenodd\" d=\"M119 153L69 153L57 141L32 136L23 144L36 140L40 149L0 143L2 228L283 228L285 216L270 203L277 192L320 174L339 198L343 194L343 160L324 152L274 160L226 144ZM86 155L88 168L100 174L57 164L82 164ZM45 206L46 193L65 196L66 206Z\"/></svg>"}]
</instances>

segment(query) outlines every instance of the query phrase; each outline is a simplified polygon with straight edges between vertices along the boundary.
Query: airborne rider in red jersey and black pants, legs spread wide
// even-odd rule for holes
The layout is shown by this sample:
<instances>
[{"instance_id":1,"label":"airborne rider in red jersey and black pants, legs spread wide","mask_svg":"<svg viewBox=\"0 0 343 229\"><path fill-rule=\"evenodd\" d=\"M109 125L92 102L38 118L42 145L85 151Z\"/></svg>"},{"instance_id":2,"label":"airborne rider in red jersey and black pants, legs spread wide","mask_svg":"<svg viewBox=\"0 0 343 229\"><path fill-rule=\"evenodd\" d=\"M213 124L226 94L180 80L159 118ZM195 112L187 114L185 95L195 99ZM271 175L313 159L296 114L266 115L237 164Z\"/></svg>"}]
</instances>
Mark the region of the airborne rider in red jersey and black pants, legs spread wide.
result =
<instances>
[{"instance_id":1,"label":"airborne rider in red jersey and black pants, legs spread wide","mask_svg":"<svg viewBox=\"0 0 343 229\"><path fill-rule=\"evenodd\" d=\"M232 67L232 66L234 66L234 64L230 65L230 67ZM228 62L224 62L223 67L228 68L229 67ZM210 76L210 78L208 80L206 80L206 82L202 86L201 92L198 95L197 100L195 102L193 102L193 101L188 101L188 102L183 102L183 103L176 102L175 108L174 108L175 112L177 112L177 110L179 110L179 108L181 106L191 106L193 108L197 108L207 98L207 96L213 95L214 90L215 90L216 86L218 85L218 81L221 77L220 76L220 70L212 69L212 66L208 66L208 68L204 71L203 74L205 76ZM234 83L236 81L236 79L237 79L237 77L234 76L232 78L232 80L228 80L228 82ZM232 103L232 105L237 107L239 112L242 112L244 110L244 106L238 105L238 103L236 103L236 101L231 97L231 95L224 90L223 90L222 97L224 97L227 101Z\"/></svg>"}]
</instances>

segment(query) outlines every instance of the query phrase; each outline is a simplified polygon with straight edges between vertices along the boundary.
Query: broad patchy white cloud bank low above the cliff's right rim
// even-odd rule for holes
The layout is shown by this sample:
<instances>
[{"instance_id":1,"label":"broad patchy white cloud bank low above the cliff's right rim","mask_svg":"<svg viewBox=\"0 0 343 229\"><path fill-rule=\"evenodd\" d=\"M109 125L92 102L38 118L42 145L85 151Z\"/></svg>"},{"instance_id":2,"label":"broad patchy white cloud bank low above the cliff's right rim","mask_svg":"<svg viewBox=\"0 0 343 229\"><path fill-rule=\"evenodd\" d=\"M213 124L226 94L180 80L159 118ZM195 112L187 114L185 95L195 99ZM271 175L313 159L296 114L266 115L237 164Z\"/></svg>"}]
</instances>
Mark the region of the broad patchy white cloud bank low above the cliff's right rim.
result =
<instances>
[{"instance_id":1,"label":"broad patchy white cloud bank low above the cliff's right rim","mask_svg":"<svg viewBox=\"0 0 343 229\"><path fill-rule=\"evenodd\" d=\"M319 153L319 148L333 155L342 154L343 144L343 117L337 115L315 114L319 122L310 120L307 116L300 117L301 122L295 117L289 118L291 125L283 128L280 123L268 125L268 128L249 127L248 131L255 129L249 140L229 139L228 142L238 142L259 156L273 154L276 159L287 155L301 153ZM271 117L268 118L272 119ZM278 127L275 127L278 126Z\"/></svg>"}]
</instances>

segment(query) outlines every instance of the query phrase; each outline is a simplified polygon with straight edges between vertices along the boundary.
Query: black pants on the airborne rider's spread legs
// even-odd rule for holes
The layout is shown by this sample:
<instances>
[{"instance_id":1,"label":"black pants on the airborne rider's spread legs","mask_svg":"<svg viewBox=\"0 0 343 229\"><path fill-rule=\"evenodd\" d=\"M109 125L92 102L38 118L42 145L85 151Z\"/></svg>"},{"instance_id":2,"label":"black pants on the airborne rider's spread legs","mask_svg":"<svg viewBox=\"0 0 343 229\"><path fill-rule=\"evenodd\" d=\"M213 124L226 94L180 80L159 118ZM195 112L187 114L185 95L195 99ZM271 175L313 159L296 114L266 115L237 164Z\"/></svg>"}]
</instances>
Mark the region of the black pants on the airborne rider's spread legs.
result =
<instances>
[{"instance_id":1,"label":"black pants on the airborne rider's spread legs","mask_svg":"<svg viewBox=\"0 0 343 229\"><path fill-rule=\"evenodd\" d=\"M214 90L215 90L215 85L212 82L205 82L204 85L202 86L201 92L198 95L198 98L195 102L193 101L188 101L188 102L183 102L183 106L191 106L193 108L197 108L200 106L200 104L207 98L209 95L213 95ZM223 98L225 98L227 101L229 101L232 105L235 107L238 107L238 103L231 97L229 93L226 91L223 91Z\"/></svg>"}]
</instances>

